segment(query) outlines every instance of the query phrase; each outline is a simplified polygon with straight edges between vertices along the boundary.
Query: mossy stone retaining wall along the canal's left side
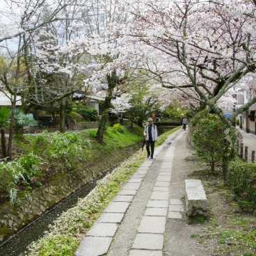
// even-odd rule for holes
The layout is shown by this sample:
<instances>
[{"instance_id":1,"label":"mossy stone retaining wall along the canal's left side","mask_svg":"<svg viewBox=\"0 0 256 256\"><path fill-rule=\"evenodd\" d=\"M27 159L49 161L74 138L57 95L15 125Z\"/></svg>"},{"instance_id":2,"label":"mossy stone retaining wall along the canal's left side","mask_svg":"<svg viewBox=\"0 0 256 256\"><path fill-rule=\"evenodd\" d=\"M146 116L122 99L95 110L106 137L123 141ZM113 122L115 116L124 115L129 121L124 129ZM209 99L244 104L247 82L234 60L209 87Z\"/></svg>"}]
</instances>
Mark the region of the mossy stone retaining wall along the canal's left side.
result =
<instances>
[{"instance_id":1,"label":"mossy stone retaining wall along the canal's left side","mask_svg":"<svg viewBox=\"0 0 256 256\"><path fill-rule=\"evenodd\" d=\"M100 161L90 163L89 166L58 175L58 177L54 177L51 181L35 189L31 194L31 199L22 200L19 205L13 206L10 203L0 205L0 241L20 230L33 218L43 214L70 193L77 191L90 180L101 175L104 170L127 159L140 146L141 144L136 143L130 147L116 150L110 155L101 157Z\"/></svg>"}]
</instances>

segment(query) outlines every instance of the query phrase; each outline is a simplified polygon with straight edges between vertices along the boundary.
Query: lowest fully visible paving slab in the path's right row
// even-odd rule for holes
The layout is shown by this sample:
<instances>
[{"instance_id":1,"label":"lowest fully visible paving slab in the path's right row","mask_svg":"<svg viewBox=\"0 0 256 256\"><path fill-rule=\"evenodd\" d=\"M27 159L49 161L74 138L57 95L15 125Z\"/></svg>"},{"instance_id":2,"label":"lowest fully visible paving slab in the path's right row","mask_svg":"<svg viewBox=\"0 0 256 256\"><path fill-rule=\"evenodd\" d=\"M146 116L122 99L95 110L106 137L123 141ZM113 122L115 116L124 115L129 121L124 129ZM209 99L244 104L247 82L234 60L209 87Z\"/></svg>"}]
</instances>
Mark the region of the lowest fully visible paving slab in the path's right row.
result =
<instances>
[{"instance_id":1,"label":"lowest fully visible paving slab in the path's right row","mask_svg":"<svg viewBox=\"0 0 256 256\"><path fill-rule=\"evenodd\" d=\"M163 250L163 234L136 234L131 248Z\"/></svg>"}]
</instances>

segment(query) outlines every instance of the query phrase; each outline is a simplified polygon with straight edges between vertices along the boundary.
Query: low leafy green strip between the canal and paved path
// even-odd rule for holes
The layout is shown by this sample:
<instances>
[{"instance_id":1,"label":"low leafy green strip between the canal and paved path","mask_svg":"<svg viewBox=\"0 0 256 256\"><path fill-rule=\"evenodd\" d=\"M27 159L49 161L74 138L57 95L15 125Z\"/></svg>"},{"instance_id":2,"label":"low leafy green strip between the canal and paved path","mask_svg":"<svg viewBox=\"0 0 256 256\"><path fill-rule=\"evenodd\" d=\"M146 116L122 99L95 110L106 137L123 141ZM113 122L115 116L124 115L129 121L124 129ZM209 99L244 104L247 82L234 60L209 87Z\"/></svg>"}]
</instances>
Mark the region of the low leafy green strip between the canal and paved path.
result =
<instances>
[{"instance_id":1,"label":"low leafy green strip between the canal and paved path","mask_svg":"<svg viewBox=\"0 0 256 256\"><path fill-rule=\"evenodd\" d=\"M157 145L163 143L167 136L177 129L159 136ZM45 237L31 244L27 255L74 255L83 234L92 227L109 202L145 160L145 156L146 151L139 150L118 168L115 168L111 174L106 175L86 198L79 201L76 207L66 211L57 219Z\"/></svg>"}]
</instances>

